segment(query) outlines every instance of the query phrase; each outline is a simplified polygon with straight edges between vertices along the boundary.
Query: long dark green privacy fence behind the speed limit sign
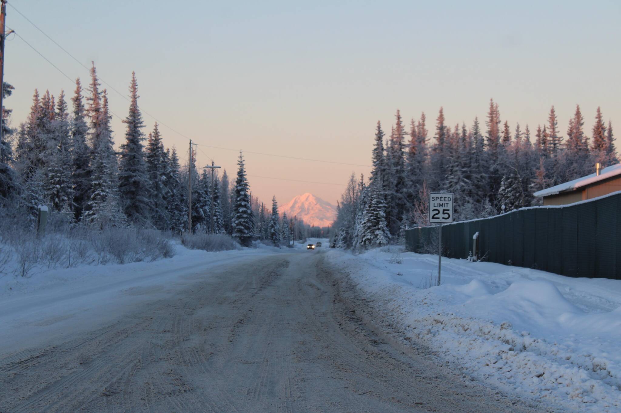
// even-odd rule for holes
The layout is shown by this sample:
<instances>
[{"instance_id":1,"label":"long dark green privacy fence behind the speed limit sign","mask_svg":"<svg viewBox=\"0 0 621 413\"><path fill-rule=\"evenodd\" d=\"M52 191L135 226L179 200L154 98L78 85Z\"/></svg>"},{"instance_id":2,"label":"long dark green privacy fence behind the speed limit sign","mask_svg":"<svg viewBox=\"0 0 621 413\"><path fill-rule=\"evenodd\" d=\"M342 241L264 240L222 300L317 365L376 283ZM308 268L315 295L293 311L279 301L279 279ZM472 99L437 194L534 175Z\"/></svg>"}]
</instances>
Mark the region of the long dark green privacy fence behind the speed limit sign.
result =
<instances>
[{"instance_id":1,"label":"long dark green privacy fence behind the speed limit sign","mask_svg":"<svg viewBox=\"0 0 621 413\"><path fill-rule=\"evenodd\" d=\"M428 251L437 227L406 230L409 251ZM569 206L519 209L442 226L445 256L467 258L479 233L479 257L570 277L621 279L621 193Z\"/></svg>"}]
</instances>

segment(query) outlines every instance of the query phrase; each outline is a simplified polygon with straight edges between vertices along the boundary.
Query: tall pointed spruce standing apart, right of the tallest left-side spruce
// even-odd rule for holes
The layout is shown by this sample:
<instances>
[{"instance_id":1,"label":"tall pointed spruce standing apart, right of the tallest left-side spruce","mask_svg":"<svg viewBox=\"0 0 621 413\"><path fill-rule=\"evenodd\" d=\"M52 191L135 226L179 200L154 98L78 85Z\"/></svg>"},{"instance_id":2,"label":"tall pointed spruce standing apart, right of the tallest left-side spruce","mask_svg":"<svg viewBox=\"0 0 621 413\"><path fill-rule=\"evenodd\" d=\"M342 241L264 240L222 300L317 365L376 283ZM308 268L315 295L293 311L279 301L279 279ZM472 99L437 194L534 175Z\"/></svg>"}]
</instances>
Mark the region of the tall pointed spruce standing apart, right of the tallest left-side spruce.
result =
<instances>
[{"instance_id":1,"label":"tall pointed spruce standing apart, right of the tallest left-side spruce","mask_svg":"<svg viewBox=\"0 0 621 413\"><path fill-rule=\"evenodd\" d=\"M144 123L138 109L138 83L135 72L132 72L129 90L129 113L123 120L127 125L125 143L120 146L119 196L127 219L134 224L145 224L150 221L150 188L143 154Z\"/></svg>"}]
</instances>

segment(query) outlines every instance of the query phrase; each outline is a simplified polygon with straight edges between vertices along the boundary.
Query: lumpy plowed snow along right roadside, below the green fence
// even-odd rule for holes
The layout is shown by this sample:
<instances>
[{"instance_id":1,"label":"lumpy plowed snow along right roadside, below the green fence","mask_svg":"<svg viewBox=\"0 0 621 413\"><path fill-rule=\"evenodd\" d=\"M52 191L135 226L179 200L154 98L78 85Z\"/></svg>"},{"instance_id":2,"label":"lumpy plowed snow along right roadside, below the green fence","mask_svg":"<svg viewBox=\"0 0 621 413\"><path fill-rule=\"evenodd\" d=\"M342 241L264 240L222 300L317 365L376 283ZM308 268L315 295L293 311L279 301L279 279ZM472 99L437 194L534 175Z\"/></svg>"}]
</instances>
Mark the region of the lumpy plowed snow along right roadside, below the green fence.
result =
<instances>
[{"instance_id":1,"label":"lumpy plowed snow along right roadside, below the green fence","mask_svg":"<svg viewBox=\"0 0 621 413\"><path fill-rule=\"evenodd\" d=\"M443 258L397 247L330 261L407 338L502 389L579 411L621 409L621 280ZM399 264L399 261L401 264Z\"/></svg>"}]
</instances>

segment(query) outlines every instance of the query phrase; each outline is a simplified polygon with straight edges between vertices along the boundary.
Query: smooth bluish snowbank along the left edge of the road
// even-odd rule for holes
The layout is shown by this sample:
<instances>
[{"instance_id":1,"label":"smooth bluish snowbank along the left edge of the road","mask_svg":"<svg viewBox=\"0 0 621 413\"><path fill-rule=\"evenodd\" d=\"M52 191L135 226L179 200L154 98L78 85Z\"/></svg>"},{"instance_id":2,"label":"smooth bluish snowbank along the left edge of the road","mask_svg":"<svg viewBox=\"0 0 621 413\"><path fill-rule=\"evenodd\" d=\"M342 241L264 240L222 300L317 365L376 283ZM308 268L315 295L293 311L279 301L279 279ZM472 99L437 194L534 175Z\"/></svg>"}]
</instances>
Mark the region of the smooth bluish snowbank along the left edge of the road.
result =
<instances>
[{"instance_id":1,"label":"smooth bluish snowbank along the left edge of the road","mask_svg":"<svg viewBox=\"0 0 621 413\"><path fill-rule=\"evenodd\" d=\"M209 277L222 264L272 254L266 249L188 250L153 262L81 265L0 277L0 354L45 346L68 334L109 323L145 300L156 300Z\"/></svg>"}]
</instances>

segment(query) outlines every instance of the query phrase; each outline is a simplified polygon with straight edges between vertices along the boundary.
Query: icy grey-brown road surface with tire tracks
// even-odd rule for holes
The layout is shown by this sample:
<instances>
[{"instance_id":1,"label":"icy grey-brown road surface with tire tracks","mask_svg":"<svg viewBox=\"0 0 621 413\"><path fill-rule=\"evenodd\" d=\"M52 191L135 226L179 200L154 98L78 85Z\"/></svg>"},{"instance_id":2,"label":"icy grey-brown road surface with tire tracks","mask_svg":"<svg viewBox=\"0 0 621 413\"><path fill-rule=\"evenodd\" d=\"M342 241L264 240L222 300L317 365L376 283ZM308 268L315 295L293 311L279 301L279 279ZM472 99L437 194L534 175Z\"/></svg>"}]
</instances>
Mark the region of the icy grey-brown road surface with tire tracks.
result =
<instances>
[{"instance_id":1,"label":"icy grey-brown road surface with tire tracks","mask_svg":"<svg viewBox=\"0 0 621 413\"><path fill-rule=\"evenodd\" d=\"M19 351L0 344L0 412L535 411L427 350L385 342L324 255L194 270L183 289L102 328Z\"/></svg>"}]
</instances>

